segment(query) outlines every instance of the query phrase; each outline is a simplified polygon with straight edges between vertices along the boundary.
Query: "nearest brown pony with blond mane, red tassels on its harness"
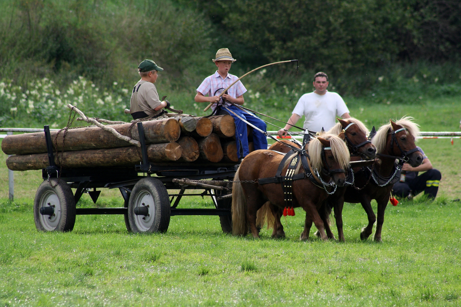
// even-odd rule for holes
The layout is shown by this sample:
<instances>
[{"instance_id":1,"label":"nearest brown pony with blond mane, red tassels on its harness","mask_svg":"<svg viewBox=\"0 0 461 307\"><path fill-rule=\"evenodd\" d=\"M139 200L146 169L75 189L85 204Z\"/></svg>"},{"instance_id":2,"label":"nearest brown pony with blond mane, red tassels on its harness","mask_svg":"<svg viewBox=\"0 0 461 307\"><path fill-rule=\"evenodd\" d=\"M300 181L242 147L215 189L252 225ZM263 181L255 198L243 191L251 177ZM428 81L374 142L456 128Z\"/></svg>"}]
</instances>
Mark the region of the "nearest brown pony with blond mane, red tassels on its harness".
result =
<instances>
[{"instance_id":1,"label":"nearest brown pony with blond mane, red tassels on its harness","mask_svg":"<svg viewBox=\"0 0 461 307\"><path fill-rule=\"evenodd\" d=\"M342 134L341 137L344 135ZM341 137L323 135L310 141L305 148L310 156L311 168L320 174L322 180L325 182L333 180L338 186L342 186L346 180L343 171L327 175L321 170L325 167L335 170L349 168L349 152ZM324 149L325 147L331 147L331 149ZM325 159L322 159L322 151L325 154ZM296 155L294 154L292 157ZM234 177L237 182L232 188L232 233L234 235L246 235L249 228L253 237L259 237L256 213L264 203L272 203L277 210L284 208L284 192L280 184L260 185L255 182L260 178L274 177L283 157L274 151L258 150L251 152L243 159ZM285 163L282 174L286 174L290 161L291 157ZM295 174L298 172L304 172L301 163L298 164ZM313 222L320 232L320 237L326 240L324 223L317 210L328 197L328 193L323 188L314 185L308 178L294 180L292 193L293 207L301 207L306 211L304 231L301 233L300 239L307 240L309 238L309 231Z\"/></svg>"}]
</instances>

